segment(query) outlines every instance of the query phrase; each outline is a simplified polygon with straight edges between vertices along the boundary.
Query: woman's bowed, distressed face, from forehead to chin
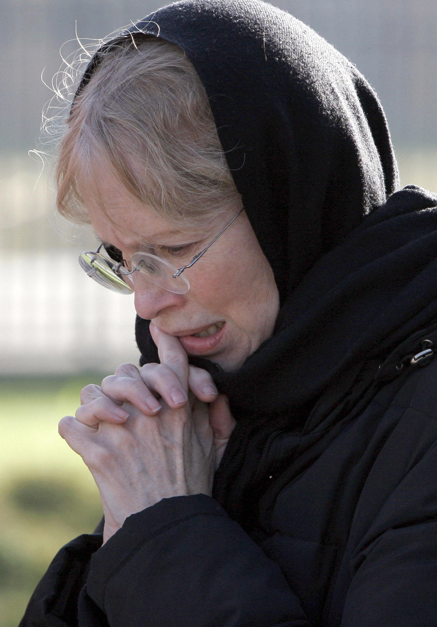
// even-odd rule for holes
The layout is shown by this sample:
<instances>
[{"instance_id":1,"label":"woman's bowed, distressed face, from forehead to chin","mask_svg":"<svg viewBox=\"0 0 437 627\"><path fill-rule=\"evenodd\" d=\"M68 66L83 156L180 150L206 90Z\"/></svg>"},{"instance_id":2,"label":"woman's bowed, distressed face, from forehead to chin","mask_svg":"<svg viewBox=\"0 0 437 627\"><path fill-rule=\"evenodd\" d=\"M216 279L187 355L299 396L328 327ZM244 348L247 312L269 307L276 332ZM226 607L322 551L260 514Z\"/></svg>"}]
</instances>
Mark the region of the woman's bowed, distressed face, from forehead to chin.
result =
<instances>
[{"instance_id":1,"label":"woman's bowed, distressed face, from forehead to chin","mask_svg":"<svg viewBox=\"0 0 437 627\"><path fill-rule=\"evenodd\" d=\"M236 204L205 229L175 228L103 167L96 175L96 188L81 187L81 196L98 236L128 262L134 253L147 251L180 268L240 210ZM272 335L279 310L272 268L245 212L184 273L190 282L185 294L167 292L133 273L136 312L176 335L188 355L206 357L225 371L238 369Z\"/></svg>"}]
</instances>

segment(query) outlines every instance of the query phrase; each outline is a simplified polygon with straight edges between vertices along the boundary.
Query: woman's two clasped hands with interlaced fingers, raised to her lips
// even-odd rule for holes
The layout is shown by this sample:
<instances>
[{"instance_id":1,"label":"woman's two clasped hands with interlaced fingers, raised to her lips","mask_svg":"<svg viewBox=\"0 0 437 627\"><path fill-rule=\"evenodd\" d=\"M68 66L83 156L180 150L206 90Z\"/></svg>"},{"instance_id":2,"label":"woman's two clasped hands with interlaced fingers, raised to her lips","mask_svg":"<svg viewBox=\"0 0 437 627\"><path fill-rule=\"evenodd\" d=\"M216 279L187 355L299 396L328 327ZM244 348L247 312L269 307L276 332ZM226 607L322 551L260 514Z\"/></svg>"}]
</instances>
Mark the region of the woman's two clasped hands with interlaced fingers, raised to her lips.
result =
<instances>
[{"instance_id":1,"label":"woman's two clasped hands with interlaced fingers, raised to her lips","mask_svg":"<svg viewBox=\"0 0 437 627\"><path fill-rule=\"evenodd\" d=\"M162 498L212 492L235 426L210 374L188 365L177 337L152 323L160 364L123 364L81 392L59 434L90 469L105 514L103 541Z\"/></svg>"}]
</instances>

